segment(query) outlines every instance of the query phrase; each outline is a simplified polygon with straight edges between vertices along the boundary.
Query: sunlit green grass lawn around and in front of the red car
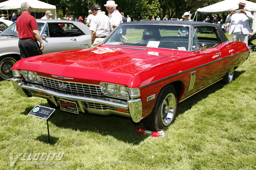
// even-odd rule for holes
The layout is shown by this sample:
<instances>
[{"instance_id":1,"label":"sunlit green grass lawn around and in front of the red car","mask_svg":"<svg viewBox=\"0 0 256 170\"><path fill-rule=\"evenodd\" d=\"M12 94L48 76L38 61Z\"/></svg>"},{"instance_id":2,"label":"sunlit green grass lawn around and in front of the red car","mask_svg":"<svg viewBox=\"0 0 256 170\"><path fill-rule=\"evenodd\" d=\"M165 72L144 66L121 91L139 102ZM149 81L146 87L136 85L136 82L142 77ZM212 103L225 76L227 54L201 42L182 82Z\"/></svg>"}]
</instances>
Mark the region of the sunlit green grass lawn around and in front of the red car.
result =
<instances>
[{"instance_id":1,"label":"sunlit green grass lawn around and in front of the red car","mask_svg":"<svg viewBox=\"0 0 256 170\"><path fill-rule=\"evenodd\" d=\"M255 65L253 52L231 84L216 83L180 103L163 139L137 134L143 124L131 119L56 110L48 144L46 120L28 115L47 101L21 97L1 81L0 170L256 169ZM54 153L64 153L62 160Z\"/></svg>"}]
</instances>

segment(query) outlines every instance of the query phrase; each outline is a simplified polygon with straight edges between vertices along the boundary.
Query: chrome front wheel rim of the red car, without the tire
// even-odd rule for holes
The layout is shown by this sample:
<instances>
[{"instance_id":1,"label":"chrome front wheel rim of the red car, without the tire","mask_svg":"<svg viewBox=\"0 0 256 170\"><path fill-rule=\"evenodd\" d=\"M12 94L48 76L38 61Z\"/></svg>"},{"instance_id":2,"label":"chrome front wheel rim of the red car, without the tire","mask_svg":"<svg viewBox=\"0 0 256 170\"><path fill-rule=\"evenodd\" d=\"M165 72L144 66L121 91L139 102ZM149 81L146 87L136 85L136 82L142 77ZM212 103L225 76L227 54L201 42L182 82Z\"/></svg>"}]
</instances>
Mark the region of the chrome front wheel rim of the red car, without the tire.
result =
<instances>
[{"instance_id":1,"label":"chrome front wheel rim of the red car, without the tire","mask_svg":"<svg viewBox=\"0 0 256 170\"><path fill-rule=\"evenodd\" d=\"M161 113L162 113L162 123L164 126L171 124L176 111L176 99L174 94L170 93L163 100Z\"/></svg>"}]
</instances>

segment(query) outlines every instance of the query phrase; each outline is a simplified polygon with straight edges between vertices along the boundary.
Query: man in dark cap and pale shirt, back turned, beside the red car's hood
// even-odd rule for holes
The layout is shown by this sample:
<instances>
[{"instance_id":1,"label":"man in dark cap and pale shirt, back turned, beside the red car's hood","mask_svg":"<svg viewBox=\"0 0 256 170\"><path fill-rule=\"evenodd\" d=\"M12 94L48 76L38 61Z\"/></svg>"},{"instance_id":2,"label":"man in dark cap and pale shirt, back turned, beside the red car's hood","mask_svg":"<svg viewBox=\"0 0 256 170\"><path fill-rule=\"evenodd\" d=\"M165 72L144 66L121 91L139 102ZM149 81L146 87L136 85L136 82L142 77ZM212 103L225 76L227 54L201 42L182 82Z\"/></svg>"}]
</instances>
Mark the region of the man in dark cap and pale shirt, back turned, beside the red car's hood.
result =
<instances>
[{"instance_id":1,"label":"man in dark cap and pale shirt, back turned, beside the red car's hood","mask_svg":"<svg viewBox=\"0 0 256 170\"><path fill-rule=\"evenodd\" d=\"M90 23L90 31L92 31L91 47L98 46L110 32L113 30L110 19L101 12L99 4L93 5L93 20Z\"/></svg>"}]
</instances>

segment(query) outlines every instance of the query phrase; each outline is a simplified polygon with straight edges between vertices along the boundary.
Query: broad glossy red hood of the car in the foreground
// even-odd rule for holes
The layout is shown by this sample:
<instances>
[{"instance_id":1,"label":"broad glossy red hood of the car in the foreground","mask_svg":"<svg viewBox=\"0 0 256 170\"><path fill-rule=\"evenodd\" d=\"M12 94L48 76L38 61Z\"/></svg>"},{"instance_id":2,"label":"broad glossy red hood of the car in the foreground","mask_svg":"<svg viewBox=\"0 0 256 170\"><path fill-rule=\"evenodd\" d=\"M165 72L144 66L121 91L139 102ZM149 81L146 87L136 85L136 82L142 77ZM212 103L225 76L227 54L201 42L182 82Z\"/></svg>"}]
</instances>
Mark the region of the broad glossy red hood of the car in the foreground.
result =
<instances>
[{"instance_id":1,"label":"broad glossy red hood of the car in the foreground","mask_svg":"<svg viewBox=\"0 0 256 170\"><path fill-rule=\"evenodd\" d=\"M114 79L121 74L122 77L131 79L140 71L153 67L155 60L176 53L177 50L101 45L93 49L61 51L22 59L12 69L75 79L107 80L108 76Z\"/></svg>"}]
</instances>

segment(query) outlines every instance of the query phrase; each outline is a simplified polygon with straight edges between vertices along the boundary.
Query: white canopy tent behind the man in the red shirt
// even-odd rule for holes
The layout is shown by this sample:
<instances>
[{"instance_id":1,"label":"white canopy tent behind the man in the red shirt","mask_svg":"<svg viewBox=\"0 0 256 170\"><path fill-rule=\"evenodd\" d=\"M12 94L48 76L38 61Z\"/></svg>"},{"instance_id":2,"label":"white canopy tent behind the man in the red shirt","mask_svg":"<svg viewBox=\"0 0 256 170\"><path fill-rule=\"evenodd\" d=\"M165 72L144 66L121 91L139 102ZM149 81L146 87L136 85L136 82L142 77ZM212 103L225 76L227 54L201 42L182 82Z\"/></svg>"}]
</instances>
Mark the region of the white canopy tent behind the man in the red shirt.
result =
<instances>
[{"instance_id":1,"label":"white canopy tent behind the man in the red shirt","mask_svg":"<svg viewBox=\"0 0 256 170\"><path fill-rule=\"evenodd\" d=\"M0 3L0 9L7 10L17 10L18 14L21 14L20 5L24 2L29 3L32 12L45 12L50 10L52 12L52 19L56 19L56 6L50 5L48 3L41 2L39 0L7 0Z\"/></svg>"}]
</instances>

